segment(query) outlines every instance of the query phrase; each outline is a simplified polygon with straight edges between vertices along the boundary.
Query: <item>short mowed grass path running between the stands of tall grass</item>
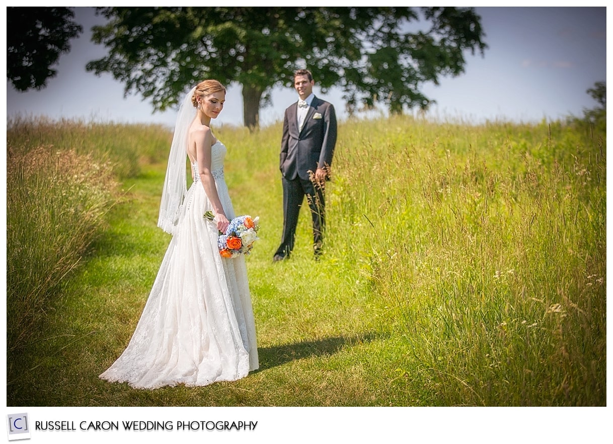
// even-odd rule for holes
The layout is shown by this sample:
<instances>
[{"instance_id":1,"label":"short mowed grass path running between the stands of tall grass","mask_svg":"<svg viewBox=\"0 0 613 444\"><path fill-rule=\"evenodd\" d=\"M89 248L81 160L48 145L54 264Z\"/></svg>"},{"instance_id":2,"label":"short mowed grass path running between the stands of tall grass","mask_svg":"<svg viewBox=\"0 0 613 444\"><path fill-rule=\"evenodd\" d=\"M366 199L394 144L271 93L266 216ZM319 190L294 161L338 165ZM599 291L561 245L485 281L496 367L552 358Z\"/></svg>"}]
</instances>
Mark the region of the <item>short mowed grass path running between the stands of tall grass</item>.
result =
<instances>
[{"instance_id":1,"label":"short mowed grass path running between the stands of tall grass","mask_svg":"<svg viewBox=\"0 0 613 444\"><path fill-rule=\"evenodd\" d=\"M367 291L356 285L355 273L341 269L333 259L314 262L308 254L306 212L297 242L302 253L273 264L280 226L263 218L262 239L247 258L259 341L257 372L203 388L154 391L99 380L99 373L128 344L170 240L156 226L164 174L164 165L150 165L124 183L124 199L112 209L109 228L67 283L64 299L49 313L46 330L55 336L40 342L47 353L34 359L34 374L25 378L33 385L17 390L20 404L411 404L394 390L394 369L402 366L390 361L402 353L384 345L385 335L369 327ZM330 267L338 270L331 273ZM337 280L330 281L331 275Z\"/></svg>"}]
</instances>

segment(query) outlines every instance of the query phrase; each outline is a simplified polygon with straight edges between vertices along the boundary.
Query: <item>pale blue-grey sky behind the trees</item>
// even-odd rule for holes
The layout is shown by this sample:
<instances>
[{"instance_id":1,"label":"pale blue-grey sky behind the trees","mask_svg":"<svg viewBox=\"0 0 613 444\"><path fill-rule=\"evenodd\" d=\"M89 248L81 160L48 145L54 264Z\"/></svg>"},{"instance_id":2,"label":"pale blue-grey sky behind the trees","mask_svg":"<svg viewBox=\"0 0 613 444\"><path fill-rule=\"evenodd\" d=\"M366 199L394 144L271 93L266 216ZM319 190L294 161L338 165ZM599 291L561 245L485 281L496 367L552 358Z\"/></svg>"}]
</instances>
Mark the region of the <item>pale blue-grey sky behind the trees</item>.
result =
<instances>
[{"instance_id":1,"label":"pale blue-grey sky behind the trees","mask_svg":"<svg viewBox=\"0 0 613 444\"><path fill-rule=\"evenodd\" d=\"M581 116L597 104L587 93L606 81L606 7L476 7L481 15L484 55L466 53L465 72L425 84L422 92L436 101L428 116L438 120L530 122ZM7 81L7 118L17 115L99 122L162 123L172 127L175 110L153 113L150 102L131 94L110 74L85 71L88 61L106 49L91 42L91 26L104 23L92 7L76 7L83 34L54 67L47 88L21 93ZM6 63L6 61L5 61ZM317 82L317 79L315 79ZM342 121L348 115L342 93L332 88L314 93L335 105ZM297 99L292 88L275 88L272 106L260 110L262 126L283 118ZM365 116L363 116L365 117ZM243 124L240 85L230 84L226 106L215 124Z\"/></svg>"}]
</instances>

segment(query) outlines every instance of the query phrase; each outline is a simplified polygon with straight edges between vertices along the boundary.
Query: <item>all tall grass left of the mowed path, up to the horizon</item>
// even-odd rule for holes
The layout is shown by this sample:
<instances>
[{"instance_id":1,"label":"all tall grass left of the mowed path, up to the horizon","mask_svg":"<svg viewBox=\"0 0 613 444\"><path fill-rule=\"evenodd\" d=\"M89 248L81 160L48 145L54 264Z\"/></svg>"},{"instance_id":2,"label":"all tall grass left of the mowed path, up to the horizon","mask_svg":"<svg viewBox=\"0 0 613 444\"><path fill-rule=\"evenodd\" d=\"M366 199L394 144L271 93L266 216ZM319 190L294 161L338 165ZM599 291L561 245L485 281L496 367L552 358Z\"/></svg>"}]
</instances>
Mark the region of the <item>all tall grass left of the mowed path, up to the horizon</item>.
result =
<instances>
[{"instance_id":1,"label":"all tall grass left of the mowed path, up to the horizon","mask_svg":"<svg viewBox=\"0 0 613 444\"><path fill-rule=\"evenodd\" d=\"M51 300L120 196L118 180L137 174L143 156L157 160L169 133L155 128L21 118L7 124L9 358L40 340Z\"/></svg>"}]
</instances>

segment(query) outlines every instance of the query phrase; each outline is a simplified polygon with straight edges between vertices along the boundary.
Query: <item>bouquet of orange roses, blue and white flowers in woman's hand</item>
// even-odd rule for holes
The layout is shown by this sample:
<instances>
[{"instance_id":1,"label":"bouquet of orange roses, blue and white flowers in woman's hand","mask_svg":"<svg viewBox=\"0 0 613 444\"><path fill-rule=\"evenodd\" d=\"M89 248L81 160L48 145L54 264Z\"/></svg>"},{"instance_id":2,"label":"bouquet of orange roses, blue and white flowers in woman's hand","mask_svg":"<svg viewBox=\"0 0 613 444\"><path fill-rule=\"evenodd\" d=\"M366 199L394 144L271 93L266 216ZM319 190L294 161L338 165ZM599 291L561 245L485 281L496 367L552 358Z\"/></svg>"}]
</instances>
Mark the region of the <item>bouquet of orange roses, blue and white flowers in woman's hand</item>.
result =
<instances>
[{"instance_id":1,"label":"bouquet of orange roses, blue and white flowers in woman's hand","mask_svg":"<svg viewBox=\"0 0 613 444\"><path fill-rule=\"evenodd\" d=\"M210 211L204 213L203 216L208 220L213 220L215 217ZM259 220L259 216L254 219L251 216L237 216L232 219L226 232L219 232L217 239L219 254L224 258L248 255L253 248L253 243L259 239L257 237L257 231L260 229L257 224Z\"/></svg>"}]
</instances>

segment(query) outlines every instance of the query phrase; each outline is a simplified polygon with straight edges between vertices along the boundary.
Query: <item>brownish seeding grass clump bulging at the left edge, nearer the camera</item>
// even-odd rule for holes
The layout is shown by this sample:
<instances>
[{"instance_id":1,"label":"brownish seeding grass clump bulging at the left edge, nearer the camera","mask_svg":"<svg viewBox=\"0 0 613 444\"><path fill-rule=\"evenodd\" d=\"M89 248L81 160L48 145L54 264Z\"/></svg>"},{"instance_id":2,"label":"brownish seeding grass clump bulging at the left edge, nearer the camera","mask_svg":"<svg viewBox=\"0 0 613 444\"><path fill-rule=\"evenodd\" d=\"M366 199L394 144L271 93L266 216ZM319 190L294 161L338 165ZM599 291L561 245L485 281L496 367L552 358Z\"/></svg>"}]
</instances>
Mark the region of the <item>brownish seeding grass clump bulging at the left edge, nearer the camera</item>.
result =
<instances>
[{"instance_id":1,"label":"brownish seeding grass clump bulging at the left edge, nearer the camera","mask_svg":"<svg viewBox=\"0 0 613 444\"><path fill-rule=\"evenodd\" d=\"M72 150L8 152L7 349L15 351L101 226L113 179L107 164Z\"/></svg>"}]
</instances>

